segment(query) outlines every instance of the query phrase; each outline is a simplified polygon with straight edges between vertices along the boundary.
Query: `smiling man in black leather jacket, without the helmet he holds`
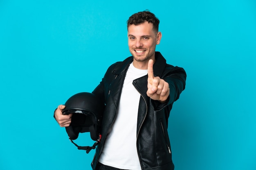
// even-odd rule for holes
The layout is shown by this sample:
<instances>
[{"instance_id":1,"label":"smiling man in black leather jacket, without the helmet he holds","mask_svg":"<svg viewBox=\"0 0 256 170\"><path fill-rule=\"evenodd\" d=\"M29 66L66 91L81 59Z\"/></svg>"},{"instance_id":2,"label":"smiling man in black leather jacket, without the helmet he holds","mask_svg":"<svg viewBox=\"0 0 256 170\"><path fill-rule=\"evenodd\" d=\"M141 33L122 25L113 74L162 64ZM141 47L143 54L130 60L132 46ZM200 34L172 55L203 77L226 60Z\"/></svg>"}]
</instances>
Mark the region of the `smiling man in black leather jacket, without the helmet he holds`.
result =
<instances>
[{"instance_id":1,"label":"smiling man in black leather jacket, without the helmet he holds","mask_svg":"<svg viewBox=\"0 0 256 170\"><path fill-rule=\"evenodd\" d=\"M153 13L135 13L127 21L132 57L111 65L92 92L106 104L102 139L93 170L173 170L168 117L185 88L183 68L166 64L155 52L162 38ZM64 105L54 112L62 127L71 122Z\"/></svg>"}]
</instances>

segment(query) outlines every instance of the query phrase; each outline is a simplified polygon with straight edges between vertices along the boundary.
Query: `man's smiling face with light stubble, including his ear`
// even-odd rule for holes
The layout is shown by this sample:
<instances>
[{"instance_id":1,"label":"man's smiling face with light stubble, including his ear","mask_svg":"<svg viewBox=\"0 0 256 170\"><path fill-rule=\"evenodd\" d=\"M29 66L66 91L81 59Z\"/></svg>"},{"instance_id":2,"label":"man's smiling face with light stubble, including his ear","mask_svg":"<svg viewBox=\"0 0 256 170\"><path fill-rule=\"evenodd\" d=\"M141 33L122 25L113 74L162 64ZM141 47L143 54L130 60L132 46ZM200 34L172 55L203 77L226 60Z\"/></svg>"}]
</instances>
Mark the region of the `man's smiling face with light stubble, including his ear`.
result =
<instances>
[{"instance_id":1,"label":"man's smiling face with light stubble, including his ear","mask_svg":"<svg viewBox=\"0 0 256 170\"><path fill-rule=\"evenodd\" d=\"M153 31L153 24L144 22L128 27L128 46L135 61L155 59L155 47L160 43L162 34Z\"/></svg>"}]
</instances>

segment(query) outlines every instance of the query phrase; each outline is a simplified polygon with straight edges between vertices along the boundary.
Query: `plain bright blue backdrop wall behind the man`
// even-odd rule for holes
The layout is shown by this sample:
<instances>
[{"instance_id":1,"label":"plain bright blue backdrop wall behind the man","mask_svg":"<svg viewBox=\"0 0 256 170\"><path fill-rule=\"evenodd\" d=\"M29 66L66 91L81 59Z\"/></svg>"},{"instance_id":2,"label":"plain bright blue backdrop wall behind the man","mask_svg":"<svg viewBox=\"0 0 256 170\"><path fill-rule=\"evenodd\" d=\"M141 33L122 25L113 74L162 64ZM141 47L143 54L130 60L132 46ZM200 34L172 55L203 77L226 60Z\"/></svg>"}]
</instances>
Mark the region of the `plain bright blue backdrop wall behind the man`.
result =
<instances>
[{"instance_id":1,"label":"plain bright blue backdrop wall behind the man","mask_svg":"<svg viewBox=\"0 0 256 170\"><path fill-rule=\"evenodd\" d=\"M169 118L175 170L256 169L255 0L0 0L0 169L89 170L54 109L130 56L126 20L149 9L187 85ZM76 143L94 142L88 134Z\"/></svg>"}]
</instances>

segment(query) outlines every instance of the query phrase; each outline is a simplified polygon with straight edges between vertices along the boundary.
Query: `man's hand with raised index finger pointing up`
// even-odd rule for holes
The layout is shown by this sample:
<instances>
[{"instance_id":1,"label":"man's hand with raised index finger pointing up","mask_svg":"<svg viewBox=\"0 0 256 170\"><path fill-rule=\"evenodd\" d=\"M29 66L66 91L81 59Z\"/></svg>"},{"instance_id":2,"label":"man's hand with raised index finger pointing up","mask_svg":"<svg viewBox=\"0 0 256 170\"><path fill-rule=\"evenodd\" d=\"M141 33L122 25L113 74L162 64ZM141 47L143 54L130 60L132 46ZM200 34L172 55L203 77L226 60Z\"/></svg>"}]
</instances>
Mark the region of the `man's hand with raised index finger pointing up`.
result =
<instances>
[{"instance_id":1,"label":"man's hand with raised index finger pointing up","mask_svg":"<svg viewBox=\"0 0 256 170\"><path fill-rule=\"evenodd\" d=\"M170 94L169 84L160 77L154 76L153 60L148 61L148 91L147 95L153 100L165 102Z\"/></svg>"}]
</instances>

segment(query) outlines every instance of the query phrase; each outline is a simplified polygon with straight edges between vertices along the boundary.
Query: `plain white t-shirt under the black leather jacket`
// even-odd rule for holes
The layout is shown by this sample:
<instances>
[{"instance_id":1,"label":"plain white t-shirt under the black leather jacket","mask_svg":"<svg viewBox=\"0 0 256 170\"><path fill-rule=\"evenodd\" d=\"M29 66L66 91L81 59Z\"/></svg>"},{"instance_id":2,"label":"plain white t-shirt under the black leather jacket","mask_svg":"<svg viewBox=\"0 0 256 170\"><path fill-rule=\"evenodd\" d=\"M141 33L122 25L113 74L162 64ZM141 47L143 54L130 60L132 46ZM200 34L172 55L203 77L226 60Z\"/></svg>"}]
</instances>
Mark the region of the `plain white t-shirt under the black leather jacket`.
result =
<instances>
[{"instance_id":1,"label":"plain white t-shirt under the black leather jacket","mask_svg":"<svg viewBox=\"0 0 256 170\"><path fill-rule=\"evenodd\" d=\"M145 76L148 70L140 70L131 63L124 80L120 104L110 133L106 137L99 162L120 169L141 170L136 146L137 116L140 94L132 85L136 78Z\"/></svg>"}]
</instances>

